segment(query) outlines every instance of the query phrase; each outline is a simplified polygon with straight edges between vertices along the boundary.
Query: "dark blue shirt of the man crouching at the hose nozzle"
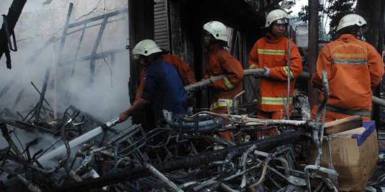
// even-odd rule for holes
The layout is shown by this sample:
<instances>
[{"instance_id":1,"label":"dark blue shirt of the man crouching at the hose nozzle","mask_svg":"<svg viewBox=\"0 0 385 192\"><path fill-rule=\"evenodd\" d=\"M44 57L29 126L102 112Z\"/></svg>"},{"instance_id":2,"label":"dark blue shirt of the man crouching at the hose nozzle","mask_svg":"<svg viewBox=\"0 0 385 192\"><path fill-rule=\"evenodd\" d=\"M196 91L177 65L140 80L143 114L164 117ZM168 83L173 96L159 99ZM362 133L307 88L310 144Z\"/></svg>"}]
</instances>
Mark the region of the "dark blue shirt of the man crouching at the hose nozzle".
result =
<instances>
[{"instance_id":1,"label":"dark blue shirt of the man crouching at the hose nozzle","mask_svg":"<svg viewBox=\"0 0 385 192\"><path fill-rule=\"evenodd\" d=\"M156 60L148 66L140 97L151 102L156 120L163 119L162 110L173 114L185 113L183 104L187 100L187 92L178 71L164 60Z\"/></svg>"}]
</instances>

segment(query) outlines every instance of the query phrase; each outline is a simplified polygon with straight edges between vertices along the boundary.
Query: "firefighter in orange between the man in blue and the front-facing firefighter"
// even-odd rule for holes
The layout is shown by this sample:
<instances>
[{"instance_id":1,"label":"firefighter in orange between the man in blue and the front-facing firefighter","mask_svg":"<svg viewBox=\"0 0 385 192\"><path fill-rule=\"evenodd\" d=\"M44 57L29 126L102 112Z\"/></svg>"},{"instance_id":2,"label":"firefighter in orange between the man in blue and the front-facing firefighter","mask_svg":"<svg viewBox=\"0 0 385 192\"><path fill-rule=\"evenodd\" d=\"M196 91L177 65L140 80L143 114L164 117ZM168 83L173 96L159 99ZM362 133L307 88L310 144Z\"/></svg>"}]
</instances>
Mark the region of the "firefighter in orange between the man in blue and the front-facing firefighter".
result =
<instances>
[{"instance_id":1,"label":"firefighter in orange between the man in blue and the front-facing firefighter","mask_svg":"<svg viewBox=\"0 0 385 192\"><path fill-rule=\"evenodd\" d=\"M233 105L233 98L241 92L243 69L240 62L224 49L227 46L227 27L219 21L205 23L205 78L225 75L222 80L212 82L210 111L227 114ZM239 105L239 100L234 102ZM230 140L230 133L222 133Z\"/></svg>"}]
</instances>

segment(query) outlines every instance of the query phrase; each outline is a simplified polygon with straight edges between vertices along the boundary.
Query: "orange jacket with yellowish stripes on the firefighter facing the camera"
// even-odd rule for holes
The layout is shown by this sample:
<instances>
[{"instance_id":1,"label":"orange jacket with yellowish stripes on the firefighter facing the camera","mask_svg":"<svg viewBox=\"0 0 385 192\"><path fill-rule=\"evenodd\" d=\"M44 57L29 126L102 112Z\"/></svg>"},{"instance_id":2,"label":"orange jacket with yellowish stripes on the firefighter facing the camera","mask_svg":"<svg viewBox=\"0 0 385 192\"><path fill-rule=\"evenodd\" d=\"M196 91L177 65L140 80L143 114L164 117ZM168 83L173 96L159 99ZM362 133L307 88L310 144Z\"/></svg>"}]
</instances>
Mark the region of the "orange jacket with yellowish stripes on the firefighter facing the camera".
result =
<instances>
[{"instance_id":1,"label":"orange jacket with yellowish stripes on the firefighter facing the camera","mask_svg":"<svg viewBox=\"0 0 385 192\"><path fill-rule=\"evenodd\" d=\"M290 69L287 65L290 42ZM265 112L284 110L282 94L287 98L287 76L290 75L289 109L292 109L295 79L302 73L302 57L297 45L284 36L267 33L260 38L249 55L249 68L270 68L269 78L260 79L257 108Z\"/></svg>"}]
</instances>

